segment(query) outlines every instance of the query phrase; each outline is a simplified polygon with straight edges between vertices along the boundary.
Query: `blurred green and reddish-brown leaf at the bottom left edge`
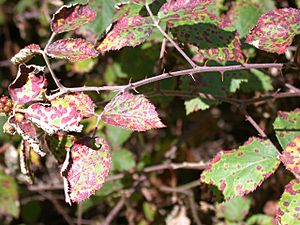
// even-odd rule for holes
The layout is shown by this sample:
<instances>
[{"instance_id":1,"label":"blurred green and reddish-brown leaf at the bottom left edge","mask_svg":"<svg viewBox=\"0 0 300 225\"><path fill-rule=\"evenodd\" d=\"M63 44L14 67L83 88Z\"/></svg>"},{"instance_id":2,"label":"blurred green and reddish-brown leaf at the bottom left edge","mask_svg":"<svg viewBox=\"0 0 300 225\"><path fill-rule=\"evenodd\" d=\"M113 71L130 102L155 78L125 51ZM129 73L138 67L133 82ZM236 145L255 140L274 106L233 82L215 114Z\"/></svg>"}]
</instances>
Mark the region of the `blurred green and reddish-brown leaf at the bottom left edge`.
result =
<instances>
[{"instance_id":1,"label":"blurred green and reddish-brown leaf at the bottom left edge","mask_svg":"<svg viewBox=\"0 0 300 225\"><path fill-rule=\"evenodd\" d=\"M15 180L0 171L0 215L19 216L19 200L17 183Z\"/></svg>"}]
</instances>

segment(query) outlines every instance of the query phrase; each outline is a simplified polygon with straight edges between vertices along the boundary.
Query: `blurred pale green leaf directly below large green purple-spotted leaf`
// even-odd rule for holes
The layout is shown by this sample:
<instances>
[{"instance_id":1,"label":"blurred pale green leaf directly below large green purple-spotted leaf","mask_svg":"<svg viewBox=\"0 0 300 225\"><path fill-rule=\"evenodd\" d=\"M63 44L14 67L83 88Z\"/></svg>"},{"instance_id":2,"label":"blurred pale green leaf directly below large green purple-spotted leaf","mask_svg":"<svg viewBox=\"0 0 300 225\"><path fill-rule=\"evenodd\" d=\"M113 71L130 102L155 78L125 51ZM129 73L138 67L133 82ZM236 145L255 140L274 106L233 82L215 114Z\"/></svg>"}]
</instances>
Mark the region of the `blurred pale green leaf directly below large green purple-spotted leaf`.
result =
<instances>
[{"instance_id":1,"label":"blurred pale green leaf directly below large green purple-spotted leaf","mask_svg":"<svg viewBox=\"0 0 300 225\"><path fill-rule=\"evenodd\" d=\"M236 197L217 206L219 218L224 217L231 222L240 222L245 219L250 210L249 198Z\"/></svg>"}]
</instances>

